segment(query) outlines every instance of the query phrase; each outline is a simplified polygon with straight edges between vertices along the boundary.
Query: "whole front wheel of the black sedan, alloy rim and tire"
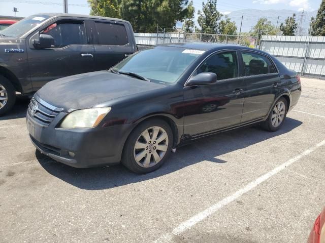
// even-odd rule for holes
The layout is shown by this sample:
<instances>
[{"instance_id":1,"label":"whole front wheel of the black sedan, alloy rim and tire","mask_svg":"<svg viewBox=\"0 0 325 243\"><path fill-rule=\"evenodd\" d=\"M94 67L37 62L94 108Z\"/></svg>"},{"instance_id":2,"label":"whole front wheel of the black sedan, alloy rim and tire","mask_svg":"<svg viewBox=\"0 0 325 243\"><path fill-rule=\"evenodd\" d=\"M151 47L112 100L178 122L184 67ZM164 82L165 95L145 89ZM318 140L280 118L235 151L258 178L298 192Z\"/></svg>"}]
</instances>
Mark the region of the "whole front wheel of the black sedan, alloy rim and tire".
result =
<instances>
[{"instance_id":1,"label":"whole front wheel of the black sedan, alloy rim and tire","mask_svg":"<svg viewBox=\"0 0 325 243\"><path fill-rule=\"evenodd\" d=\"M157 170L171 153L173 133L160 119L150 119L140 124L127 139L122 164L137 174Z\"/></svg>"}]
</instances>

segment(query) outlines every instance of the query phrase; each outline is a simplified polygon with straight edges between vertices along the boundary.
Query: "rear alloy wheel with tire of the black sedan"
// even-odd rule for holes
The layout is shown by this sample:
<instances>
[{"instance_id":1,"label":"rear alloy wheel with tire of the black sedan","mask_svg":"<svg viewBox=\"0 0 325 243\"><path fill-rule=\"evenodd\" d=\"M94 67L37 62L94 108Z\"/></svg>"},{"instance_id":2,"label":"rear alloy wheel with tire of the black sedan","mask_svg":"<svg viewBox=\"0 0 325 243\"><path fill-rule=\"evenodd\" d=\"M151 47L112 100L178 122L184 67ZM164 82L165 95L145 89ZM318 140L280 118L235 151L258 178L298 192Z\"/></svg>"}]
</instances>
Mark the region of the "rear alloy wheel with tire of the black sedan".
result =
<instances>
[{"instance_id":1,"label":"rear alloy wheel with tire of the black sedan","mask_svg":"<svg viewBox=\"0 0 325 243\"><path fill-rule=\"evenodd\" d=\"M270 132L280 129L287 113L286 99L281 97L272 107L272 111L268 118L262 123L262 127Z\"/></svg>"}]
</instances>

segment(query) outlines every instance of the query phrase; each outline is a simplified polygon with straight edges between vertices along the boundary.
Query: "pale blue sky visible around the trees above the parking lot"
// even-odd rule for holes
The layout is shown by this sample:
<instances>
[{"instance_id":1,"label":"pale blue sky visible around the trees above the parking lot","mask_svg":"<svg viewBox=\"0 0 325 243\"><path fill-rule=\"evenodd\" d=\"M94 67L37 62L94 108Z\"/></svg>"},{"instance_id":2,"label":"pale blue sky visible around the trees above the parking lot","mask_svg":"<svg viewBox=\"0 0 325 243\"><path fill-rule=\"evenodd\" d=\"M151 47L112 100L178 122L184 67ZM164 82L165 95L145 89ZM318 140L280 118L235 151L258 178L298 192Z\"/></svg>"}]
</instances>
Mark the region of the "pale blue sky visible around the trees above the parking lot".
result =
<instances>
[{"instance_id":1,"label":"pale blue sky visible around the trees above the parking lot","mask_svg":"<svg viewBox=\"0 0 325 243\"><path fill-rule=\"evenodd\" d=\"M63 0L0 0L0 15L14 16L13 7L18 8L17 16L26 17L36 13L63 12ZM202 0L193 0L196 11L201 9ZM68 0L69 13L89 14L87 0ZM219 0L218 10L229 13L241 9L317 10L321 0Z\"/></svg>"}]
</instances>

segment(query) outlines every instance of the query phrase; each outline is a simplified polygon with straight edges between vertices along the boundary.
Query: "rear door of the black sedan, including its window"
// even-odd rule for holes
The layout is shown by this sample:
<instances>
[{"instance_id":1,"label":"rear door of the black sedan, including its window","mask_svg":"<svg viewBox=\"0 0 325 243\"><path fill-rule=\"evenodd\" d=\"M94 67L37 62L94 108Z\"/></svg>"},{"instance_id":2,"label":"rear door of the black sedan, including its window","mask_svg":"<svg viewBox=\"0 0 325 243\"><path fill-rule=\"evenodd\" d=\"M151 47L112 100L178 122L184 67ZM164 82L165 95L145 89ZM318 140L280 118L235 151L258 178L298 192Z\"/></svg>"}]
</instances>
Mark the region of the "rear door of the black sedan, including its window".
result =
<instances>
[{"instance_id":1,"label":"rear door of the black sedan, including its window","mask_svg":"<svg viewBox=\"0 0 325 243\"><path fill-rule=\"evenodd\" d=\"M245 101L241 119L244 123L266 116L283 84L268 56L242 50L241 57L245 69Z\"/></svg>"}]
</instances>

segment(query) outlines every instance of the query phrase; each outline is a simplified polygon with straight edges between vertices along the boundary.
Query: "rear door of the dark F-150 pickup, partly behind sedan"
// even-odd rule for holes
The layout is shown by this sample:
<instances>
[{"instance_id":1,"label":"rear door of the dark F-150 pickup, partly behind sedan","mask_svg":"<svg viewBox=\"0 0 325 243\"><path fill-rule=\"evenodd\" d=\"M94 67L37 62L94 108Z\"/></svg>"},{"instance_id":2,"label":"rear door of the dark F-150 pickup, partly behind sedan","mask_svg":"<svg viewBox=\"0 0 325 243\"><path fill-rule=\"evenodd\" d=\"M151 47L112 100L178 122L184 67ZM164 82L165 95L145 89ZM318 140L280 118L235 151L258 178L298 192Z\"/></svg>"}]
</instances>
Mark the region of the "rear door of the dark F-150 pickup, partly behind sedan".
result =
<instances>
[{"instance_id":1,"label":"rear door of the dark F-150 pickup, partly behind sedan","mask_svg":"<svg viewBox=\"0 0 325 243\"><path fill-rule=\"evenodd\" d=\"M94 58L96 69L114 66L129 54L134 53L133 41L129 39L129 28L124 22L94 20Z\"/></svg>"}]
</instances>

